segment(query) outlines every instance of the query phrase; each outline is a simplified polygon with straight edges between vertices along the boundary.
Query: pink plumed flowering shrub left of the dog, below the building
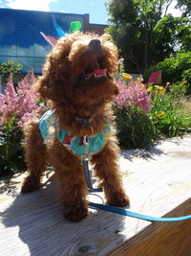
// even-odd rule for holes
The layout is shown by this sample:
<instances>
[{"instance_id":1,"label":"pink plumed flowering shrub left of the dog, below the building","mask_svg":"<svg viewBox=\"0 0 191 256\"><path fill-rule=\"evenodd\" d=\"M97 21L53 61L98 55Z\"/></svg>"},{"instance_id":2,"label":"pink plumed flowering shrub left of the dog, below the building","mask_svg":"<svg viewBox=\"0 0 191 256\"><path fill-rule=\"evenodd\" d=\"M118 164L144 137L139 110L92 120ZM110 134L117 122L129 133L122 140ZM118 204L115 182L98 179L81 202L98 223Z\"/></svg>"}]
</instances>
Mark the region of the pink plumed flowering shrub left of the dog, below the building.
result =
<instances>
[{"instance_id":1,"label":"pink plumed flowering shrub left of the dog, below the building","mask_svg":"<svg viewBox=\"0 0 191 256\"><path fill-rule=\"evenodd\" d=\"M21 147L22 127L40 108L38 95L32 90L35 81L31 71L15 89L10 77L5 95L0 94L0 175L25 168Z\"/></svg>"}]
</instances>

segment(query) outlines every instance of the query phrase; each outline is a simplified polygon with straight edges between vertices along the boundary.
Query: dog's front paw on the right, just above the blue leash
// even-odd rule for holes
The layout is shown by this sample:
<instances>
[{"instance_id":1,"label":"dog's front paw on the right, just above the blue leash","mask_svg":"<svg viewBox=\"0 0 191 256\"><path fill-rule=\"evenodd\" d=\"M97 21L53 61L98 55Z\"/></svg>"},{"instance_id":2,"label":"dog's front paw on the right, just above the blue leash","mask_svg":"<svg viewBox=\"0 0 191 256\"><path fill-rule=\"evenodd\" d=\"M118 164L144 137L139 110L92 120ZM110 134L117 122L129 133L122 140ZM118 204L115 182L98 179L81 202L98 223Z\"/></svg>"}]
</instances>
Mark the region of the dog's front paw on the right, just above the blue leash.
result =
<instances>
[{"instance_id":1,"label":"dog's front paw on the right, just above the blue leash","mask_svg":"<svg viewBox=\"0 0 191 256\"><path fill-rule=\"evenodd\" d=\"M116 192L111 195L107 200L108 204L117 207L124 207L126 205L130 205L130 199L123 192Z\"/></svg>"}]
</instances>

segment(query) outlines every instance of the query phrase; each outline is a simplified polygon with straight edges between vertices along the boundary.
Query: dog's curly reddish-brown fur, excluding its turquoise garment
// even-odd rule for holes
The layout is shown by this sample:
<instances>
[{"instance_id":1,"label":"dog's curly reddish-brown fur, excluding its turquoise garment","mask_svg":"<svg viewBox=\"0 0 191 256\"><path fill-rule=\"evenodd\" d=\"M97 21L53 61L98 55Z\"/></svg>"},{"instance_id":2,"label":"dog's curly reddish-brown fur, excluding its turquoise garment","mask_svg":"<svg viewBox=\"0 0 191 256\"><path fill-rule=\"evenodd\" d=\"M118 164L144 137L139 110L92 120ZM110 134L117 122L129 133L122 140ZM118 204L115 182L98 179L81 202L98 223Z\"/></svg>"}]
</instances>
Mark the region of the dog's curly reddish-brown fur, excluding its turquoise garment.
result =
<instances>
[{"instance_id":1,"label":"dog's curly reddish-brown fur, excluding its turquoise garment","mask_svg":"<svg viewBox=\"0 0 191 256\"><path fill-rule=\"evenodd\" d=\"M106 77L85 79L87 73L105 68ZM70 130L74 136L84 136L87 128L75 122L75 116L91 117L91 127L96 132L114 120L111 103L118 93L113 78L117 72L117 47L109 35L78 32L60 38L47 58L45 70L34 88L42 98L51 100L60 128ZM51 162L60 184L64 215L70 221L80 221L88 214L88 190L80 157L66 149L56 136L47 146L38 122L39 119L35 117L24 128L29 175L21 191L28 193L37 190L41 175L47 163ZM117 138L112 132L104 148L94 154L91 161L107 203L125 206L129 198L122 188L118 155Z\"/></svg>"}]
</instances>

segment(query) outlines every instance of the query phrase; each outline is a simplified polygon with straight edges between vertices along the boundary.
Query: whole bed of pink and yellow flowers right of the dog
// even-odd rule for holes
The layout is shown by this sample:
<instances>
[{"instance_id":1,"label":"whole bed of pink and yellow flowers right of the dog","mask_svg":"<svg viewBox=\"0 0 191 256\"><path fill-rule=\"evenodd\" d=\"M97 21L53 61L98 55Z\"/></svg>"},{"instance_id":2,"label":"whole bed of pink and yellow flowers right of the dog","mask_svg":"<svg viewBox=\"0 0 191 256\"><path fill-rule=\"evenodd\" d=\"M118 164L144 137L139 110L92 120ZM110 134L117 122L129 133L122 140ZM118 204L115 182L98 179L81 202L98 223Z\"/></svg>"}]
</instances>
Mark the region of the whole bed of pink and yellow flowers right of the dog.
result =
<instances>
[{"instance_id":1,"label":"whole bed of pink and yellow flowers right of the dog","mask_svg":"<svg viewBox=\"0 0 191 256\"><path fill-rule=\"evenodd\" d=\"M191 118L180 109L180 96L165 86L133 81L128 74L117 78L117 136L122 148L149 148L156 139L190 131ZM171 86L172 87L172 86Z\"/></svg>"}]
</instances>

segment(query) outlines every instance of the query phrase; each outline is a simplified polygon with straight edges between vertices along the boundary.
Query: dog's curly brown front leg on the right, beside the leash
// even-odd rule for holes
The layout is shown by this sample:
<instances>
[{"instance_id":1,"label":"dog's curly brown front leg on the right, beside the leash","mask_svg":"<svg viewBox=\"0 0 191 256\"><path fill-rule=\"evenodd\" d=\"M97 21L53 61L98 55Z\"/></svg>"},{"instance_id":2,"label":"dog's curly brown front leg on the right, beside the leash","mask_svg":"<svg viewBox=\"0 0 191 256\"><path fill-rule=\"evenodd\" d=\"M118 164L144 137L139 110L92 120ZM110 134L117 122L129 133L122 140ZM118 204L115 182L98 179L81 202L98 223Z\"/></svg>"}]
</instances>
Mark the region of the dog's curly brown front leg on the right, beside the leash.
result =
<instances>
[{"instance_id":1,"label":"dog's curly brown front leg on the right, beside the leash","mask_svg":"<svg viewBox=\"0 0 191 256\"><path fill-rule=\"evenodd\" d=\"M107 203L123 207L129 204L129 198L122 187L121 175L118 166L118 146L115 138L110 138L102 151L93 155L96 175L104 189Z\"/></svg>"}]
</instances>

